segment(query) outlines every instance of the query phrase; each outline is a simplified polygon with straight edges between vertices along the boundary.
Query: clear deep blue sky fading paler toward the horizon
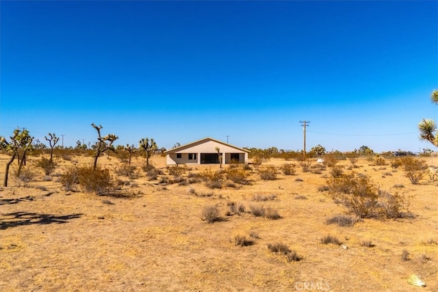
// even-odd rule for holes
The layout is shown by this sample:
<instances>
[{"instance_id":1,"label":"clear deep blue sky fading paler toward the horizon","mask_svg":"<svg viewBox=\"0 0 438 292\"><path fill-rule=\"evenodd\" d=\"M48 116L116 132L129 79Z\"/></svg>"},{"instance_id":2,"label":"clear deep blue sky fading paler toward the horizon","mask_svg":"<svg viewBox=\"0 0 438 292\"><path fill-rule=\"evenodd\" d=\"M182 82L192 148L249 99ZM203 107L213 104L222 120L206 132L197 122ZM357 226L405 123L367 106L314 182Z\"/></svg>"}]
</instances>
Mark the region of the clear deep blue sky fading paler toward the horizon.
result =
<instances>
[{"instance_id":1,"label":"clear deep blue sky fading paler toward the horizon","mask_svg":"<svg viewBox=\"0 0 438 292\"><path fill-rule=\"evenodd\" d=\"M1 1L0 135L433 148L438 1Z\"/></svg>"}]
</instances>

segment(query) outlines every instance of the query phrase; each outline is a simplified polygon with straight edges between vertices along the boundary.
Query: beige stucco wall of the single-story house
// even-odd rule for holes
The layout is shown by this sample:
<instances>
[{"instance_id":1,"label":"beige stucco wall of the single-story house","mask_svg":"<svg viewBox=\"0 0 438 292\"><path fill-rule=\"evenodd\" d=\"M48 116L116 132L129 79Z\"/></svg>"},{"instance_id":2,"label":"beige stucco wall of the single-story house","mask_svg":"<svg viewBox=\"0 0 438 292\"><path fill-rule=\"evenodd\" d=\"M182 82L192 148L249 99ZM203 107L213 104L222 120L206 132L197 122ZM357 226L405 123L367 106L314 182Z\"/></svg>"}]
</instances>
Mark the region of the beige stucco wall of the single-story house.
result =
<instances>
[{"instance_id":1,"label":"beige stucco wall of the single-story house","mask_svg":"<svg viewBox=\"0 0 438 292\"><path fill-rule=\"evenodd\" d=\"M240 150L233 148L231 146L227 146L224 144L220 144L215 141L207 141L200 142L198 144L191 145L187 148L179 149L175 153L168 153L166 155L166 163L167 164L200 164L201 163L201 153L217 153L216 147L219 148L222 153L222 157L224 157L224 161L222 163L231 163L231 154L230 153L240 153L240 163L248 162L248 153L240 152ZM177 153L181 153L181 158L177 158ZM196 153L196 160L189 160L189 153Z\"/></svg>"}]
</instances>

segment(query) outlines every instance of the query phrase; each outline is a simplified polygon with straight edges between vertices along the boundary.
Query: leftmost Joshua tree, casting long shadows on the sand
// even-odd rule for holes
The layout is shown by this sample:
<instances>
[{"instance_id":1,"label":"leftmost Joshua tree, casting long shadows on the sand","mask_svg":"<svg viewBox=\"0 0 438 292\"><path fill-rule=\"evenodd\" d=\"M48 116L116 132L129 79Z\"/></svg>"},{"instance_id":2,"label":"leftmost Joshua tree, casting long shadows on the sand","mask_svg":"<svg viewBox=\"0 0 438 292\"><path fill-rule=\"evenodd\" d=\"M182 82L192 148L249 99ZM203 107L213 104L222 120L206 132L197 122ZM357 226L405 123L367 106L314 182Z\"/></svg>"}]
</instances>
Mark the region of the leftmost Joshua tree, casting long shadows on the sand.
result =
<instances>
[{"instance_id":1,"label":"leftmost Joshua tree, casting long shadows on the sand","mask_svg":"<svg viewBox=\"0 0 438 292\"><path fill-rule=\"evenodd\" d=\"M22 131L20 131L20 129L15 129L14 135L10 137L10 142L7 142L4 137L0 137L0 148L5 149L7 152L10 152L12 154L11 159L8 161L8 163L6 163L3 187L8 187L9 167L12 162L14 162L14 159L16 157L18 157L18 161L20 161L18 165L17 176L20 175L21 168L26 159L26 152L32 147L32 140L34 140L34 137L31 137L29 135L29 131L27 131L26 129L23 129ZM23 150L23 155L21 156L21 159L19 150Z\"/></svg>"}]
</instances>

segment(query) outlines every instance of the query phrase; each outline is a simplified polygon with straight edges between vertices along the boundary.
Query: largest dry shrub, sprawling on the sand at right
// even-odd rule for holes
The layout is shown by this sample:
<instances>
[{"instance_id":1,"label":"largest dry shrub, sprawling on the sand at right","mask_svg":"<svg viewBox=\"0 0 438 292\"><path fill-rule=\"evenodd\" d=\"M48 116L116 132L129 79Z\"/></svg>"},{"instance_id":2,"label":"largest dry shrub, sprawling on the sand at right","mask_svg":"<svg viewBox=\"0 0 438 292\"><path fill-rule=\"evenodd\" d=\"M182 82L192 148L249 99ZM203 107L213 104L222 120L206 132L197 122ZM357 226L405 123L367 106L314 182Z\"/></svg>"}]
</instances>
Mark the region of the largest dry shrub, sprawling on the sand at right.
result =
<instances>
[{"instance_id":1,"label":"largest dry shrub, sprawling on the sand at right","mask_svg":"<svg viewBox=\"0 0 438 292\"><path fill-rule=\"evenodd\" d=\"M368 176L355 172L329 179L329 192L335 202L344 204L348 210L360 218L411 217L404 197L375 187Z\"/></svg>"}]
</instances>

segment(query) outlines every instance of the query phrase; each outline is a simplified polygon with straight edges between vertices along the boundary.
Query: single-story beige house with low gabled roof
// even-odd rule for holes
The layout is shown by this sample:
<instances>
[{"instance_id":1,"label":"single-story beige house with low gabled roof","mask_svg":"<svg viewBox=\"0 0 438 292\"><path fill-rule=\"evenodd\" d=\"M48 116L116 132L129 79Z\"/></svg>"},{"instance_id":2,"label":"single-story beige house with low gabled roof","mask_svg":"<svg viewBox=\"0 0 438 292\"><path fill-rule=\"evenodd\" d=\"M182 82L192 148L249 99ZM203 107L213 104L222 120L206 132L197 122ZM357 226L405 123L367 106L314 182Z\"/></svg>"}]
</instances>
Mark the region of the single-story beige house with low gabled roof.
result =
<instances>
[{"instance_id":1,"label":"single-story beige house with low gabled roof","mask_svg":"<svg viewBox=\"0 0 438 292\"><path fill-rule=\"evenodd\" d=\"M219 148L219 152L218 152ZM250 151L210 137L164 152L169 164L247 163Z\"/></svg>"}]
</instances>

